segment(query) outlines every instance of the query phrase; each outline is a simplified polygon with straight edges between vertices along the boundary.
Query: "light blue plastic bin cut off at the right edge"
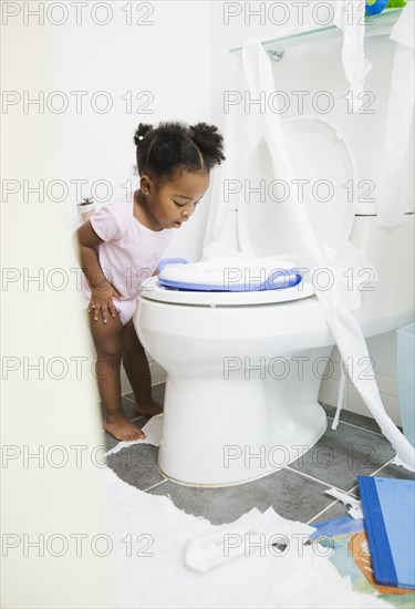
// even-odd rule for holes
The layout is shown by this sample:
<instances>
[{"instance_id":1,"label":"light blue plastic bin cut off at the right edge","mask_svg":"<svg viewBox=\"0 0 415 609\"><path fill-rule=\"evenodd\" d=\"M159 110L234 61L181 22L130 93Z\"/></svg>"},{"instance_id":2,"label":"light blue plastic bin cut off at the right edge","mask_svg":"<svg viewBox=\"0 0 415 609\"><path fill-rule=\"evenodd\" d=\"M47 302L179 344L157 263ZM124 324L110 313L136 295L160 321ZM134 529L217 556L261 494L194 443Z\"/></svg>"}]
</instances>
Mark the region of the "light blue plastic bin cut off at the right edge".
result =
<instances>
[{"instance_id":1,"label":"light blue plastic bin cut off at the right edge","mask_svg":"<svg viewBox=\"0 0 415 609\"><path fill-rule=\"evenodd\" d=\"M415 447L415 322L397 330L397 391L404 436Z\"/></svg>"}]
</instances>

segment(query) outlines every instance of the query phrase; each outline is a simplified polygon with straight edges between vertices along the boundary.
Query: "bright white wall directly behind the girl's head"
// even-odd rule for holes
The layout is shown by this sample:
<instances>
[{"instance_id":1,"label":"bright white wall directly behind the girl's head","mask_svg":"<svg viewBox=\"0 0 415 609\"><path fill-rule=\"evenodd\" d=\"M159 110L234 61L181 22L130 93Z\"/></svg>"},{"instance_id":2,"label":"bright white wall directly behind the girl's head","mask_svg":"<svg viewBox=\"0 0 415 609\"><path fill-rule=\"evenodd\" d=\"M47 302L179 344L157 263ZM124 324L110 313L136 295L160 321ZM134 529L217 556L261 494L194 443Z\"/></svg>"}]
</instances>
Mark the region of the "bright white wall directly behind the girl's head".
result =
<instances>
[{"instance_id":1,"label":"bright white wall directly behind the girl's head","mask_svg":"<svg viewBox=\"0 0 415 609\"><path fill-rule=\"evenodd\" d=\"M123 194L127 185L134 187L138 179L133 171L136 164L133 136L139 122L194 124L210 116L209 3L112 2L110 6L112 21L107 25L100 27L86 19L81 29L65 27L52 31L54 87L87 92L82 114L72 110L62 120L65 179L86 179L82 196L92 195L97 207ZM145 6L149 12L144 10ZM122 7L129 7L128 12ZM129 11L133 22L126 24ZM101 19L104 17L102 13ZM94 99L100 91L104 95ZM91 110L94 103L106 107L106 100L112 104L108 112L100 114ZM77 223L74 204L81 200L76 194L72 187L68 200L74 227ZM208 196L191 225L175 231L167 254L180 252L197 259L207 204Z\"/></svg>"}]
</instances>

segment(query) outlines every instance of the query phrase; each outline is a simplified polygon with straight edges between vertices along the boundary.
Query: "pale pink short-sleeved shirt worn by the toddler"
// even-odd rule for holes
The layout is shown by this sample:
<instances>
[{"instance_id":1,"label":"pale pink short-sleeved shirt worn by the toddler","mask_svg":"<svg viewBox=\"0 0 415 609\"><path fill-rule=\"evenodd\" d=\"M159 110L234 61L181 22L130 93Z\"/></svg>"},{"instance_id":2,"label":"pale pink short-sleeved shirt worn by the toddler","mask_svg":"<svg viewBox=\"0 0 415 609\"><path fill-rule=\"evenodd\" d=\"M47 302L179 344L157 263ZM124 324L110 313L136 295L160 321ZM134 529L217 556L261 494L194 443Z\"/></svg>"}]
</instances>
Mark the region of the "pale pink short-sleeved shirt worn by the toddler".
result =
<instances>
[{"instance_id":1,"label":"pale pink short-sleeved shirt worn by the toddler","mask_svg":"<svg viewBox=\"0 0 415 609\"><path fill-rule=\"evenodd\" d=\"M143 226L133 209L134 200L123 195L101 207L91 218L92 228L104 240L97 246L101 268L122 300L137 298L141 283L153 275L173 236L173 230ZM86 277L84 292L91 297Z\"/></svg>"}]
</instances>

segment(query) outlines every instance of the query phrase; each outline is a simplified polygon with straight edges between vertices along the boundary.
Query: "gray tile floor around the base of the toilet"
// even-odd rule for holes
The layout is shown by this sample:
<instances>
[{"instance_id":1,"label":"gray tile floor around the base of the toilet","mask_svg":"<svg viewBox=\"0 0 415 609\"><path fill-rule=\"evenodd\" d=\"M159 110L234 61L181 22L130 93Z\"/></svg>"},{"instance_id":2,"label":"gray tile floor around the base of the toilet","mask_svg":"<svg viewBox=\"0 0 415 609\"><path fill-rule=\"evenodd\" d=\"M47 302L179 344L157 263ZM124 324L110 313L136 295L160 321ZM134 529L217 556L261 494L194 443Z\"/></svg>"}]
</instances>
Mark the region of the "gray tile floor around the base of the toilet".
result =
<instances>
[{"instance_id":1,"label":"gray tile floor around the base of the toilet","mask_svg":"<svg viewBox=\"0 0 415 609\"><path fill-rule=\"evenodd\" d=\"M165 385L153 388L163 402ZM136 416L134 395L123 398L125 413L141 427L148 421ZM357 475L408 478L407 469L391 464L394 450L375 421L343 411L336 431L331 430L334 407L323 404L329 425L320 441L298 461L263 478L226 488L187 487L165 479L157 469L155 446L136 444L108 456L108 466L121 479L154 495L168 495L188 514L203 516L214 525L230 523L257 507L272 506L278 514L303 523L321 522L347 514L344 505L324 491L332 486L359 497ZM107 450L117 444L105 434Z\"/></svg>"}]
</instances>

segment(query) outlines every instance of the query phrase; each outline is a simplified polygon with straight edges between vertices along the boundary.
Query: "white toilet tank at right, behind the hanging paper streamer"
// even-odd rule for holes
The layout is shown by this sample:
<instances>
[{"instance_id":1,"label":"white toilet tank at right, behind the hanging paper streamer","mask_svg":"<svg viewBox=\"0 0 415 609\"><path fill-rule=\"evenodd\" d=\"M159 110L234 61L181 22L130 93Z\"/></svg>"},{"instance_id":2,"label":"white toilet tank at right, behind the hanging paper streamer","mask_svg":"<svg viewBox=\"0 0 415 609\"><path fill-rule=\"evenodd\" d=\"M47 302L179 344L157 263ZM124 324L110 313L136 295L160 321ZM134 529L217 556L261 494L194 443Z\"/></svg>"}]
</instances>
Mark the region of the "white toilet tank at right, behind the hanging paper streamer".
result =
<instances>
[{"instance_id":1,"label":"white toilet tank at right, behind the hanging paper streamer","mask_svg":"<svg viewBox=\"0 0 415 609\"><path fill-rule=\"evenodd\" d=\"M414 214L394 228L377 225L377 216L355 216L350 241L378 273L370 271L361 290L361 307L354 311L365 337L382 334L414 319Z\"/></svg>"}]
</instances>

